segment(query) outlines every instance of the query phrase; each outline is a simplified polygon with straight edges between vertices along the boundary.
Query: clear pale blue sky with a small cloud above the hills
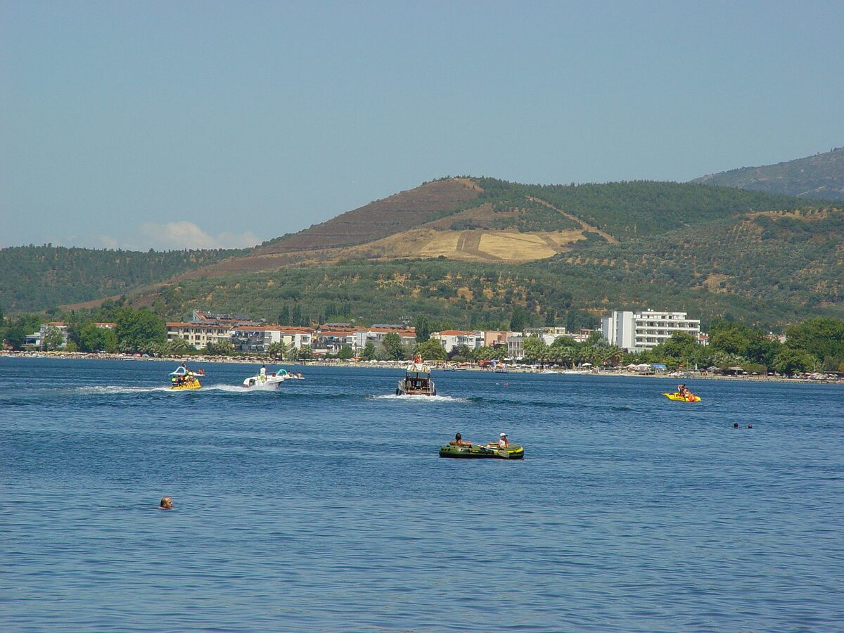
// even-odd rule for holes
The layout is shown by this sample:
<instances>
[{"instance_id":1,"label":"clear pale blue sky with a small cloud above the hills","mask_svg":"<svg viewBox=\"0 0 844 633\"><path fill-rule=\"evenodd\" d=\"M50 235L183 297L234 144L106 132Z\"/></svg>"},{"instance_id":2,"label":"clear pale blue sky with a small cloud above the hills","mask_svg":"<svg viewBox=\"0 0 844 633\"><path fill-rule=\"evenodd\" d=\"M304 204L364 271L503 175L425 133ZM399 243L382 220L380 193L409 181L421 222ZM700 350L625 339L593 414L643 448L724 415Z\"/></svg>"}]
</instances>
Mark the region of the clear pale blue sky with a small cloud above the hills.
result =
<instances>
[{"instance_id":1,"label":"clear pale blue sky with a small cloud above the hills","mask_svg":"<svg viewBox=\"0 0 844 633\"><path fill-rule=\"evenodd\" d=\"M443 176L844 145L844 3L0 0L0 247L253 246Z\"/></svg>"}]
</instances>

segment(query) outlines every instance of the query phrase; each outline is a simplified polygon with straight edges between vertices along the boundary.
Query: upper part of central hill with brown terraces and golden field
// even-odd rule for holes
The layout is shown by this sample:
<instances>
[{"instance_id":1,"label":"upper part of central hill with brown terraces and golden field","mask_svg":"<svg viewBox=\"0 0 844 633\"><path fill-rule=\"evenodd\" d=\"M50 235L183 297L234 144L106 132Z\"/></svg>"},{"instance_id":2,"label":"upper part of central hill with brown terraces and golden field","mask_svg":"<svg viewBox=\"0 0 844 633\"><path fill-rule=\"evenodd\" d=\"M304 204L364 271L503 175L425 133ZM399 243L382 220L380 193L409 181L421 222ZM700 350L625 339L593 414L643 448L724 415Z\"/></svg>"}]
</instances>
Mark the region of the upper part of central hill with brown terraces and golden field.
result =
<instances>
[{"instance_id":1,"label":"upper part of central hill with brown terraces and golden field","mask_svg":"<svg viewBox=\"0 0 844 633\"><path fill-rule=\"evenodd\" d=\"M179 280L355 258L523 263L597 242L618 243L795 204L793 197L692 183L540 186L447 178L284 235L242 257L197 268Z\"/></svg>"}]
</instances>

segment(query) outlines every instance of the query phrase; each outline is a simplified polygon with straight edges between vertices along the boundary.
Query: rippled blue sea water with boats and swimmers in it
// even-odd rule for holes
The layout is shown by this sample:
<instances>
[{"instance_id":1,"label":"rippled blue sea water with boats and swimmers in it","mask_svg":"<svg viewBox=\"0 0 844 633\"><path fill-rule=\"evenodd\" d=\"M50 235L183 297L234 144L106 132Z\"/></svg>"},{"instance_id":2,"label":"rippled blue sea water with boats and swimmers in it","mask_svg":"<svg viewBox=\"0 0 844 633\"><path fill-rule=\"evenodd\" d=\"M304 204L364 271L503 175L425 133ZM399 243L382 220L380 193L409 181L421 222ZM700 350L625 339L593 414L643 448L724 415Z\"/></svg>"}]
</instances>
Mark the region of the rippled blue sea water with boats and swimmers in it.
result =
<instances>
[{"instance_id":1,"label":"rippled blue sea water with boats and swimmers in it","mask_svg":"<svg viewBox=\"0 0 844 633\"><path fill-rule=\"evenodd\" d=\"M844 628L842 387L174 368L0 359L0 630Z\"/></svg>"}]
</instances>

